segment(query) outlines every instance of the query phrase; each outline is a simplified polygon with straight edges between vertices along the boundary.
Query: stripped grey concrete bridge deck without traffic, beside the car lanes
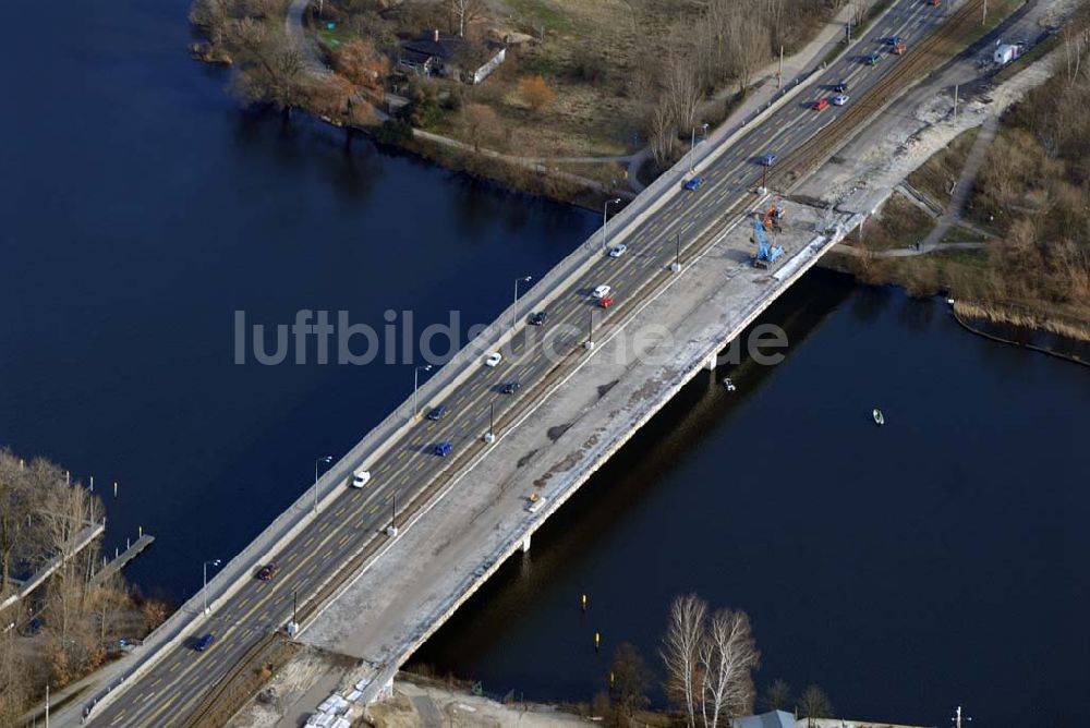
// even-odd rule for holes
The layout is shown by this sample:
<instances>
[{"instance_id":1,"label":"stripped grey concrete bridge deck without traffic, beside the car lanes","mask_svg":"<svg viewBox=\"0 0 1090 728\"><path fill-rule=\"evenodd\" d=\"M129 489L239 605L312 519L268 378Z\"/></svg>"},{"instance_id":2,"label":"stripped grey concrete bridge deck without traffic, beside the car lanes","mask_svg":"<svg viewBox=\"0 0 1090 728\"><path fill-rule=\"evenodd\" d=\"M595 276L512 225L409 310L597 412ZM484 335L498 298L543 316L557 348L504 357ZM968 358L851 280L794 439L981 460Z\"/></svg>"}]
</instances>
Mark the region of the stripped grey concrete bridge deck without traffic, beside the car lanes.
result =
<instances>
[{"instance_id":1,"label":"stripped grey concrete bridge deck without traffic, beside the car lanes","mask_svg":"<svg viewBox=\"0 0 1090 728\"><path fill-rule=\"evenodd\" d=\"M814 245L812 223L820 216L802 220L804 208L790 211L796 227L787 226L777 240L790 241L778 267L750 266L749 228L738 226L623 331L600 342L562 387L467 469L452 486L457 497L443 498L403 527L382 559L315 620L304 642L365 662L347 676L346 687L367 679L374 697L392 670L701 371L708 352L737 337L828 250L829 240ZM634 355L634 332L652 325L671 331L673 341ZM546 499L536 513L526 510L530 493Z\"/></svg>"}]
</instances>

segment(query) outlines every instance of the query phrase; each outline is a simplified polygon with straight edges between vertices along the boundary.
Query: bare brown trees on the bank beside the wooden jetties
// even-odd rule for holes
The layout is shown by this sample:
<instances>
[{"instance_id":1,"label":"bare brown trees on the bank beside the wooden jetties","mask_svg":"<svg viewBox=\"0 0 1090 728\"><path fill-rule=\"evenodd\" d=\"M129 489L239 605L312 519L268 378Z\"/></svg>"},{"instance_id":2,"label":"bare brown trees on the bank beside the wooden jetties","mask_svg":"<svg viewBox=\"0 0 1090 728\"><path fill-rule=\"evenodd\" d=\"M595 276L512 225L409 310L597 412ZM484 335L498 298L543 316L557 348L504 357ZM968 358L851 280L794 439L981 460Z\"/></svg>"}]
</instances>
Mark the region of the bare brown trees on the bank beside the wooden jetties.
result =
<instances>
[{"instance_id":1,"label":"bare brown trees on the bank beside the wooden jetties","mask_svg":"<svg viewBox=\"0 0 1090 728\"><path fill-rule=\"evenodd\" d=\"M164 604L117 575L92 583L100 544L75 545L102 513L59 465L0 449L0 600L17 592L13 579L61 559L43 586L0 612L0 725L15 725L47 683L56 690L99 667L119 636L142 636L166 618Z\"/></svg>"}]
</instances>

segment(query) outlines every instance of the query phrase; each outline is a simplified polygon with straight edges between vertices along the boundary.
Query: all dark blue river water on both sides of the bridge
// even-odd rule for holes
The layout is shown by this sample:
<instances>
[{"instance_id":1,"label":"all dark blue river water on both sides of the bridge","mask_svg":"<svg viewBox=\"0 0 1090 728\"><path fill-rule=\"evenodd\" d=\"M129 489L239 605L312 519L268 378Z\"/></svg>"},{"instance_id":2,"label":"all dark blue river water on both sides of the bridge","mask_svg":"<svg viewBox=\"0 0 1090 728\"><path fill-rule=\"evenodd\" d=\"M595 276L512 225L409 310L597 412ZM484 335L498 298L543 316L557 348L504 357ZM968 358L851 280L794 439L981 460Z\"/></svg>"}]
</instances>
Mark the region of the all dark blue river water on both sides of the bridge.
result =
<instances>
[{"instance_id":1,"label":"all dark blue river water on both sides of the bridge","mask_svg":"<svg viewBox=\"0 0 1090 728\"><path fill-rule=\"evenodd\" d=\"M239 112L228 72L184 51L184 1L5 10L21 31L0 50L0 445L94 475L108 550L158 537L128 572L147 593L192 594L203 560L237 553L412 387L405 363L235 365L235 311L378 328L411 310L420 328L453 308L465 328L596 225ZM698 377L420 662L590 700L621 641L657 669L669 599L694 591L751 615L759 684L820 683L852 716L945 725L964 702L986 725L1075 725L1086 371L829 272L766 319L788 330L785 363L738 367L731 395Z\"/></svg>"}]
</instances>

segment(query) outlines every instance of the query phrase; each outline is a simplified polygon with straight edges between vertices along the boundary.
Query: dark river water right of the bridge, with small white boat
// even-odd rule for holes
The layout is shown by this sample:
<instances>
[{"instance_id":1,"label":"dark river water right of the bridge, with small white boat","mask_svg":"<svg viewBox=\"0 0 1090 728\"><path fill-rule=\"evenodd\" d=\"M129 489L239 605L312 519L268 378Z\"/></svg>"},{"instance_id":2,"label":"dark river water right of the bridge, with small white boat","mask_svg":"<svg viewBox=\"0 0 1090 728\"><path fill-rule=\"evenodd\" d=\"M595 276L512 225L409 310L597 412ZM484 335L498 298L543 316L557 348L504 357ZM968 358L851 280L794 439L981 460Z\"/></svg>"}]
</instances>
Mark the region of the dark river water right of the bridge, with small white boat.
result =
<instances>
[{"instance_id":1,"label":"dark river water right of the bridge, with small white boat","mask_svg":"<svg viewBox=\"0 0 1090 728\"><path fill-rule=\"evenodd\" d=\"M734 393L699 376L415 660L590 701L620 642L661 672L668 604L695 592L750 614L760 688L818 683L838 715L1081 725L1087 369L822 271L765 318L783 364L718 373Z\"/></svg>"}]
</instances>

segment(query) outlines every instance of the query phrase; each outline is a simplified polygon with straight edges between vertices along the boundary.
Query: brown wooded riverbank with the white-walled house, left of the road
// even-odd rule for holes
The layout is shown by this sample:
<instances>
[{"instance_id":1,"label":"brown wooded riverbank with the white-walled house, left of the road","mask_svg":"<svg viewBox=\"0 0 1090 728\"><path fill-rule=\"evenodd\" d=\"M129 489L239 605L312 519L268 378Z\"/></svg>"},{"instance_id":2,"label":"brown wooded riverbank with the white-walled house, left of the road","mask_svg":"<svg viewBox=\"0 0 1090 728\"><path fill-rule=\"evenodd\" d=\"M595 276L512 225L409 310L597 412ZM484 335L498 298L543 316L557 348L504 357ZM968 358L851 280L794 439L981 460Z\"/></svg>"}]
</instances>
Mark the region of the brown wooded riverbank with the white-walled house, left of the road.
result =
<instances>
[{"instance_id":1,"label":"brown wooded riverbank with the white-walled house, left of the road","mask_svg":"<svg viewBox=\"0 0 1090 728\"><path fill-rule=\"evenodd\" d=\"M750 49L746 64L750 70L740 76L723 70L714 78L701 76L691 92L692 119L657 132L646 131L651 128L645 117L652 113L654 104L665 104L662 96L666 92L659 88L667 84L663 72L712 73L711 69L683 63L655 70L646 62L645 47L631 47L637 40L666 44L668 47L661 52L651 53L657 59L652 65L665 63L666 57L677 60L697 53L692 48L681 52L669 45L679 43L677 28L671 28L681 21L671 20L673 15L633 19L633 28L664 28L651 38L643 32L620 32L607 14L595 11L592 17L580 3L560 3L558 17L570 17L565 21L567 25L554 21L567 31L545 28L536 38L491 27L486 19L481 19L477 35L507 39L509 52L507 60L476 85L437 76L421 80L398 71L400 64L393 61L400 59L400 51L391 35L401 38L412 23L421 22L416 15L400 17L400 11L393 10L383 14L386 35L377 37L352 20L354 11L338 9L335 2L324 4L319 20L308 0L265 3L263 14L257 15L246 14L253 10L240 10L230 1L197 0L191 20L207 40L194 44L192 50L204 61L235 64L232 88L245 102L303 109L336 126L371 134L380 143L404 148L448 169L600 209L605 199L631 198L642 191L646 180L677 162L691 142L716 136L717 132L711 130L723 132L743 123L774 98L780 78L789 83L839 52L844 23L860 17L864 23L872 22L888 9L887 2L872 0L841 8L834 17L827 9L818 12L810 9L811 4L824 8L823 3L803 3L804 8L777 20L786 53L782 65L770 62L759 68L772 60L771 53L767 48ZM631 5L626 8L637 12ZM754 16L761 23L764 12L762 9ZM518 17L513 14L508 23L518 24ZM715 22L728 21L720 17ZM621 37L611 35L618 32ZM465 43L472 38L473 34L467 32ZM695 44L698 39L686 43ZM591 63L580 50L604 45L616 51L608 54L608 61L604 56ZM290 69L274 73L267 59L284 53L292 57ZM727 61L729 58L724 57L716 62ZM526 108L528 80L545 84L542 96L546 102L540 107ZM738 86L737 93L730 90L731 84ZM391 88L397 93L390 93ZM702 88L713 90L705 97ZM625 100L622 109L616 108L618 99ZM581 116L590 110L605 117ZM617 129L618 123L623 129ZM685 131L693 125L702 129L700 134ZM593 142L586 137L589 129L601 133L603 126L613 130L613 141ZM566 129L571 132L570 138L558 136ZM650 169L654 173L649 174Z\"/></svg>"}]
</instances>

